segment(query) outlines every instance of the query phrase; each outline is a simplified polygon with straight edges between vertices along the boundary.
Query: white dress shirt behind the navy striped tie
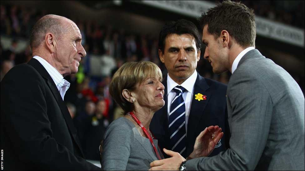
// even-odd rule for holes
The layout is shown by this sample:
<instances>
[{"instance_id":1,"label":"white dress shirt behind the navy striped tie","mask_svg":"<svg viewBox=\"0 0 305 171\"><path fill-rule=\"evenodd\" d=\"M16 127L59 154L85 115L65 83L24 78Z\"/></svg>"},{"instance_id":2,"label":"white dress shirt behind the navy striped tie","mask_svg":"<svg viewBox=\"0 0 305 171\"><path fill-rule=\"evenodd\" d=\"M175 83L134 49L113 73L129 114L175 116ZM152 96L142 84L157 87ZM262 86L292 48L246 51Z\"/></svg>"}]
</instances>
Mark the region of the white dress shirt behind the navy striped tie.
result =
<instances>
[{"instance_id":1,"label":"white dress shirt behind the navy striped tie","mask_svg":"<svg viewBox=\"0 0 305 171\"><path fill-rule=\"evenodd\" d=\"M194 73L187 78L181 85L176 83L169 75L167 75L167 98L168 98L168 105L167 105L167 115L169 118L169 113L171 109L171 104L176 96L176 92L173 91L173 88L176 86L182 86L183 88L186 89L186 91L183 93L183 100L185 102L185 128L186 128L186 133L187 133L187 123L188 123L188 117L190 115L190 110L191 110L191 104L192 104L192 97L194 93L194 85L197 79L197 71L195 70Z\"/></svg>"}]
</instances>

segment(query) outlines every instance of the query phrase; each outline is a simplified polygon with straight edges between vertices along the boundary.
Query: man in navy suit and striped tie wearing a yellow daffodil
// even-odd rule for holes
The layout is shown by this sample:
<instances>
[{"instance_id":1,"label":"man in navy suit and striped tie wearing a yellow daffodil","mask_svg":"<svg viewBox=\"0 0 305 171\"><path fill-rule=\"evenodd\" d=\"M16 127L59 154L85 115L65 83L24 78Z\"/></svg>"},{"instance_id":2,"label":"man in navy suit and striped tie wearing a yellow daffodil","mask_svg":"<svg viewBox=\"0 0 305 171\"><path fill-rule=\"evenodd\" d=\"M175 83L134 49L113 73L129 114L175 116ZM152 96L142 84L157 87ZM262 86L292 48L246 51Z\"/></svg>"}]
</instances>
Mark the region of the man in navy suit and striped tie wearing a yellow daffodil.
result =
<instances>
[{"instance_id":1,"label":"man in navy suit and striped tie wearing a yellow daffodil","mask_svg":"<svg viewBox=\"0 0 305 171\"><path fill-rule=\"evenodd\" d=\"M159 57L168 70L162 82L165 105L154 114L150 129L161 149L173 150L188 159L195 157L191 153L196 137L206 127L217 125L224 133L209 156L226 150L230 136L227 86L197 73L200 48L199 32L191 21L172 21L160 31ZM166 152L164 156L168 157Z\"/></svg>"}]
</instances>

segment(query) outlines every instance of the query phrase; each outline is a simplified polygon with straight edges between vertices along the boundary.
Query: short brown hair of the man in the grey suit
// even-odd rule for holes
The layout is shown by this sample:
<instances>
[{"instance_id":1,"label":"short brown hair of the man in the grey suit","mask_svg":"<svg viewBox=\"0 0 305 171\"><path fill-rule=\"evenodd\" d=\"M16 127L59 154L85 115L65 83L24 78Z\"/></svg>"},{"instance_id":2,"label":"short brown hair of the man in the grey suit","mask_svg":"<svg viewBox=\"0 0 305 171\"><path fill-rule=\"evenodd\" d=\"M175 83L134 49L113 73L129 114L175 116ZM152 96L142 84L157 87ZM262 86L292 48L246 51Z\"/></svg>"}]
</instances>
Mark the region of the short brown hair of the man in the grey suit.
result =
<instances>
[{"instance_id":1,"label":"short brown hair of the man in the grey suit","mask_svg":"<svg viewBox=\"0 0 305 171\"><path fill-rule=\"evenodd\" d=\"M207 31L217 39L222 30L229 32L242 47L255 47L256 27L252 9L240 2L223 1L209 8L198 18L201 28L208 26Z\"/></svg>"}]
</instances>

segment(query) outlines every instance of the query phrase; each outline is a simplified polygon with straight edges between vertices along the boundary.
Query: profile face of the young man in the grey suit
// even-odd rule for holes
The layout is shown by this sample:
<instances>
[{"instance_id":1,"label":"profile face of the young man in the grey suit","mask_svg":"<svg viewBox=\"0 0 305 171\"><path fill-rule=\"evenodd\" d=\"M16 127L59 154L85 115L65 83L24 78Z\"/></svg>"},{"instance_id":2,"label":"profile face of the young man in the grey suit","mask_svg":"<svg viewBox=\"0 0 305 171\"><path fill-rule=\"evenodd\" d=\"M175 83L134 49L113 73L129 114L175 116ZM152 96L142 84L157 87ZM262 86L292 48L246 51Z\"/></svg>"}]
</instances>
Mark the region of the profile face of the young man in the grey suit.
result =
<instances>
[{"instance_id":1,"label":"profile face of the young man in the grey suit","mask_svg":"<svg viewBox=\"0 0 305 171\"><path fill-rule=\"evenodd\" d=\"M222 49L220 45L221 40L219 39L215 39L207 31L207 25L203 27L202 43L206 45L203 57L211 63L215 74L221 74L227 71L227 65L229 64L229 58Z\"/></svg>"}]
</instances>

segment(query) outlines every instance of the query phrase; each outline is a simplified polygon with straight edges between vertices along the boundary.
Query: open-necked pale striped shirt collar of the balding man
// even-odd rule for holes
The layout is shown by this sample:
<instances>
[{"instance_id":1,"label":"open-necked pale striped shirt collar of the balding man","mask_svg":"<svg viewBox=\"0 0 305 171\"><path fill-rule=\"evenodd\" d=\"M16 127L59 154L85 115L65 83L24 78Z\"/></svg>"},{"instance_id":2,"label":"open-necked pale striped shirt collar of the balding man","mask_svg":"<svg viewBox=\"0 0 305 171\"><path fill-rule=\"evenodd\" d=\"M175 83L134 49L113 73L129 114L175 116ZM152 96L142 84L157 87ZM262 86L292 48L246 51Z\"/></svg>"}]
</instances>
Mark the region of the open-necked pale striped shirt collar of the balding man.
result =
<instances>
[{"instance_id":1,"label":"open-necked pale striped shirt collar of the balding man","mask_svg":"<svg viewBox=\"0 0 305 171\"><path fill-rule=\"evenodd\" d=\"M42 59L39 56L34 56L34 59L37 59L40 64L47 70L50 74L51 78L53 79L61 97L63 98L70 87L70 83L63 79L63 76L55 69L51 64L49 64L46 60Z\"/></svg>"}]
</instances>

